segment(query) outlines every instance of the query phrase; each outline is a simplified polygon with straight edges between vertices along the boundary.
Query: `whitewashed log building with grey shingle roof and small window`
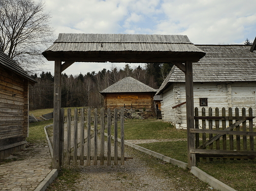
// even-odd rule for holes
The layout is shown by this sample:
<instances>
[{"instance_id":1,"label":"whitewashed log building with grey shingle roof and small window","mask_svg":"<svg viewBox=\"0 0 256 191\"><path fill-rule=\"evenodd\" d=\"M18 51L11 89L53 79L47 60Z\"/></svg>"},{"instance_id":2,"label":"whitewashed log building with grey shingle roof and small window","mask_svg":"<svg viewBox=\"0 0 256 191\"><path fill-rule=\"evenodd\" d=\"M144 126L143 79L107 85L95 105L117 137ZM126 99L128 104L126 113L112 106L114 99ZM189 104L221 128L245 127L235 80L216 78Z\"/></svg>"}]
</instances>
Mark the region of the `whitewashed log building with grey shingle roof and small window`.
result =
<instances>
[{"instance_id":1,"label":"whitewashed log building with grey shingle roof and small window","mask_svg":"<svg viewBox=\"0 0 256 191\"><path fill-rule=\"evenodd\" d=\"M246 45L196 45L206 52L193 64L194 107L253 108L256 114L256 53ZM156 95L162 95L162 119L186 124L185 75L173 66ZM200 116L200 115L199 115Z\"/></svg>"}]
</instances>

